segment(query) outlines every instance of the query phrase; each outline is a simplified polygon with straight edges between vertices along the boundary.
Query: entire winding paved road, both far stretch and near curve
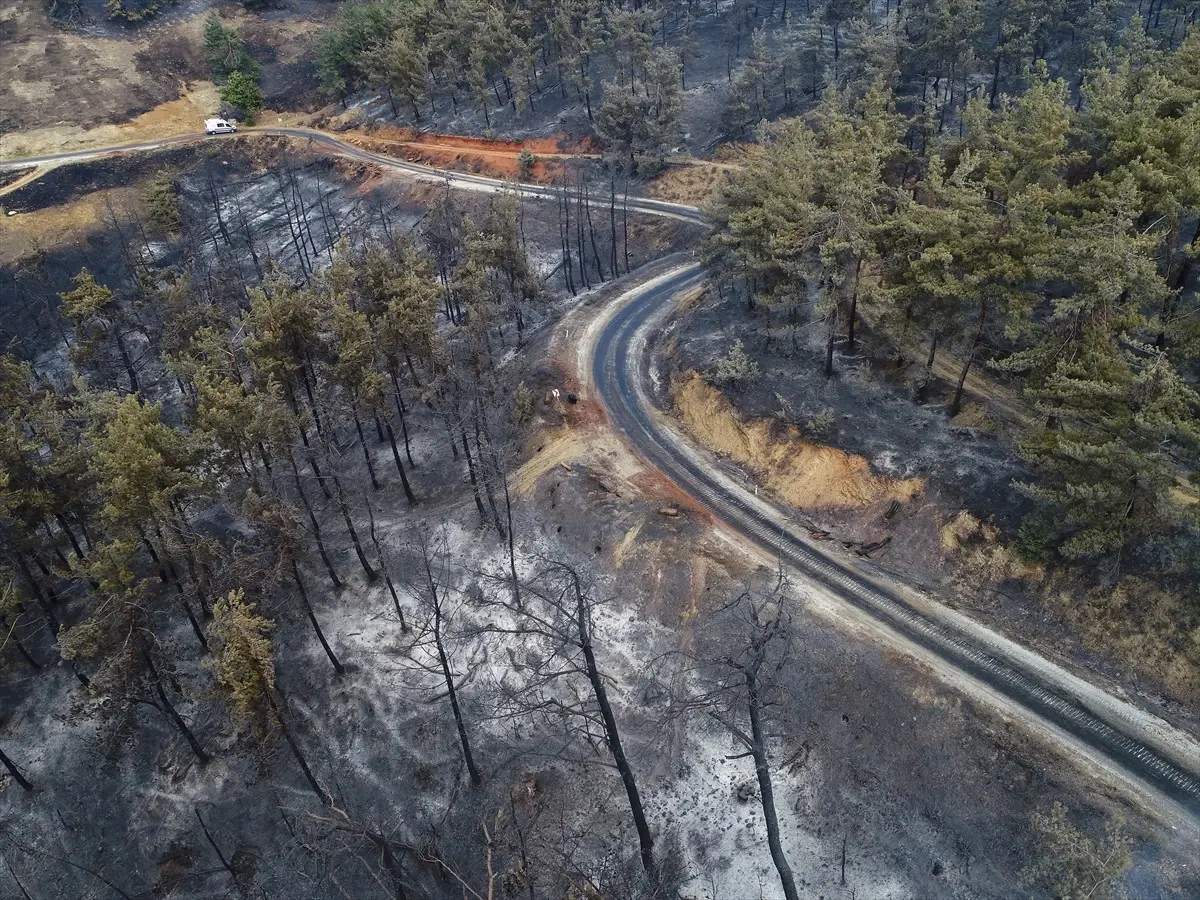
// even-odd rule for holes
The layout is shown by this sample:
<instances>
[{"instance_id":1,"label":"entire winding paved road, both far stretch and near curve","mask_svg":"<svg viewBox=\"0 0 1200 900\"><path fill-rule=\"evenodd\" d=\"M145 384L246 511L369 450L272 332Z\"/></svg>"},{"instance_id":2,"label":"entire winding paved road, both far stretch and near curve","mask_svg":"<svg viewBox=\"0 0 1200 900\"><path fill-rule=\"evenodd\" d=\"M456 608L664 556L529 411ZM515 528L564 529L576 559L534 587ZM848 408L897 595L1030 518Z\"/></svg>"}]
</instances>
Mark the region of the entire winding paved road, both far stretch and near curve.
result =
<instances>
[{"instance_id":1,"label":"entire winding paved road, both far stretch and near curve","mask_svg":"<svg viewBox=\"0 0 1200 900\"><path fill-rule=\"evenodd\" d=\"M242 133L310 142L332 154L434 179L461 190L490 193L515 190L530 198L553 196L553 188L515 186L499 179L446 172L374 154L311 128L256 127ZM228 138L186 134L96 150L5 160L0 161L0 170L56 167L206 139ZM628 204L643 214L706 224L703 214L694 206L636 197L630 197ZM614 304L614 314L596 337L592 358L593 383L613 425L629 444L698 505L770 556L786 560L815 586L1072 736L1088 750L1115 762L1127 774L1177 800L1193 816L1200 816L1200 744L1190 737L984 626L944 610L938 613L932 607L922 607L869 574L824 553L800 539L790 528L784 512L738 486L661 421L646 386L649 380L647 343L650 334L664 323L673 301L697 287L702 278L698 265L686 265L634 288Z\"/></svg>"}]
</instances>

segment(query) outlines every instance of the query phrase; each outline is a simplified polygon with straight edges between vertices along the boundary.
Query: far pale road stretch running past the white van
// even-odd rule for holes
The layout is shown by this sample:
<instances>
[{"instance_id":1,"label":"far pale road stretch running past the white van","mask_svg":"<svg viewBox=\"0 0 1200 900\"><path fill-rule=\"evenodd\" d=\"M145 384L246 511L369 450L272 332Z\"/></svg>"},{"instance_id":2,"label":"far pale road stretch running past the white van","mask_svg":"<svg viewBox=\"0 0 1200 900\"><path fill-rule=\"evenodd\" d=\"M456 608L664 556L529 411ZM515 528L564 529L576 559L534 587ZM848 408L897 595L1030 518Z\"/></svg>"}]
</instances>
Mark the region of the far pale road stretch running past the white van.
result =
<instances>
[{"instance_id":1,"label":"far pale road stretch running past the white van","mask_svg":"<svg viewBox=\"0 0 1200 900\"><path fill-rule=\"evenodd\" d=\"M46 156L30 156L20 160L0 160L0 172L12 170L12 169L29 169L38 167L59 167L70 166L79 162L88 162L90 160L100 160L106 156L118 156L121 154L144 154L154 152L155 150L162 150L168 146L178 146L180 144L191 144L200 140L230 140L239 136L272 136L281 138L289 138L292 140L305 140L318 150L325 152L336 154L338 156L346 156L353 160L361 160L364 162L371 162L377 166L383 166L390 169L398 169L401 172L407 172L409 174L416 175L418 178L442 181L449 184L451 187L458 190L468 191L481 191L485 193L498 193L500 191L516 192L521 197L528 197L532 199L551 198L556 196L556 190L553 187L541 187L539 185L526 185L514 181L505 181L498 178L487 178L485 175L473 175L466 172L450 172L448 169L437 169L432 166L422 166L418 162L409 162L408 160L397 160L392 156L385 156L383 154L376 154L370 150L364 150L360 146L349 144L335 134L330 134L325 131L318 131L317 128L302 128L302 127L274 127L274 126L256 126L240 130L236 134L217 134L206 136L203 133L197 134L179 134L172 138L160 138L157 140L140 140L132 144L115 144L113 146L96 148L92 150L76 150L61 154L49 154ZM606 206L607 200L596 198L593 200L596 206ZM644 212L653 216L660 216L665 218L677 218L684 222L691 222L694 224L707 224L708 220L704 215L695 206L686 206L680 203L667 203L666 200L654 200L646 197L629 197L628 198L629 209L636 210L638 212Z\"/></svg>"}]
</instances>

